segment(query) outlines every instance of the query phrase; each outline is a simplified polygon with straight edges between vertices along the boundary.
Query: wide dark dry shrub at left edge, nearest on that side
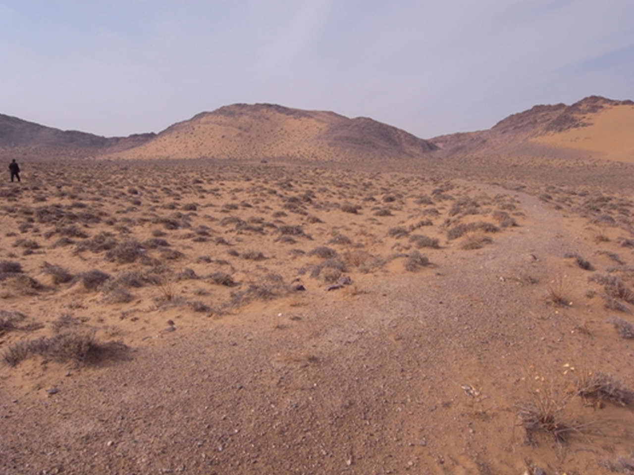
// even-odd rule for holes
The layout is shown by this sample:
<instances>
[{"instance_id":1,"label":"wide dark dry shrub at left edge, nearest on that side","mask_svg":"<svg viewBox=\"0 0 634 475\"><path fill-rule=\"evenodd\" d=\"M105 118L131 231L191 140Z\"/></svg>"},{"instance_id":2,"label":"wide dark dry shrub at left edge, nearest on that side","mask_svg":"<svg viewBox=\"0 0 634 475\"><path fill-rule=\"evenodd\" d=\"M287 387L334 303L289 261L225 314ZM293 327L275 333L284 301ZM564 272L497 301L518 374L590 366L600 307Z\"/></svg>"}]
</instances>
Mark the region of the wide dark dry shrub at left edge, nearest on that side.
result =
<instances>
[{"instance_id":1,"label":"wide dark dry shrub at left edge, nearest on that side","mask_svg":"<svg viewBox=\"0 0 634 475\"><path fill-rule=\"evenodd\" d=\"M16 366L31 355L41 355L56 361L75 361L96 363L104 357L113 357L115 353L126 352L123 343L110 341L100 343L93 333L68 332L50 338L37 338L30 341L18 341L4 353L4 361Z\"/></svg>"}]
</instances>

